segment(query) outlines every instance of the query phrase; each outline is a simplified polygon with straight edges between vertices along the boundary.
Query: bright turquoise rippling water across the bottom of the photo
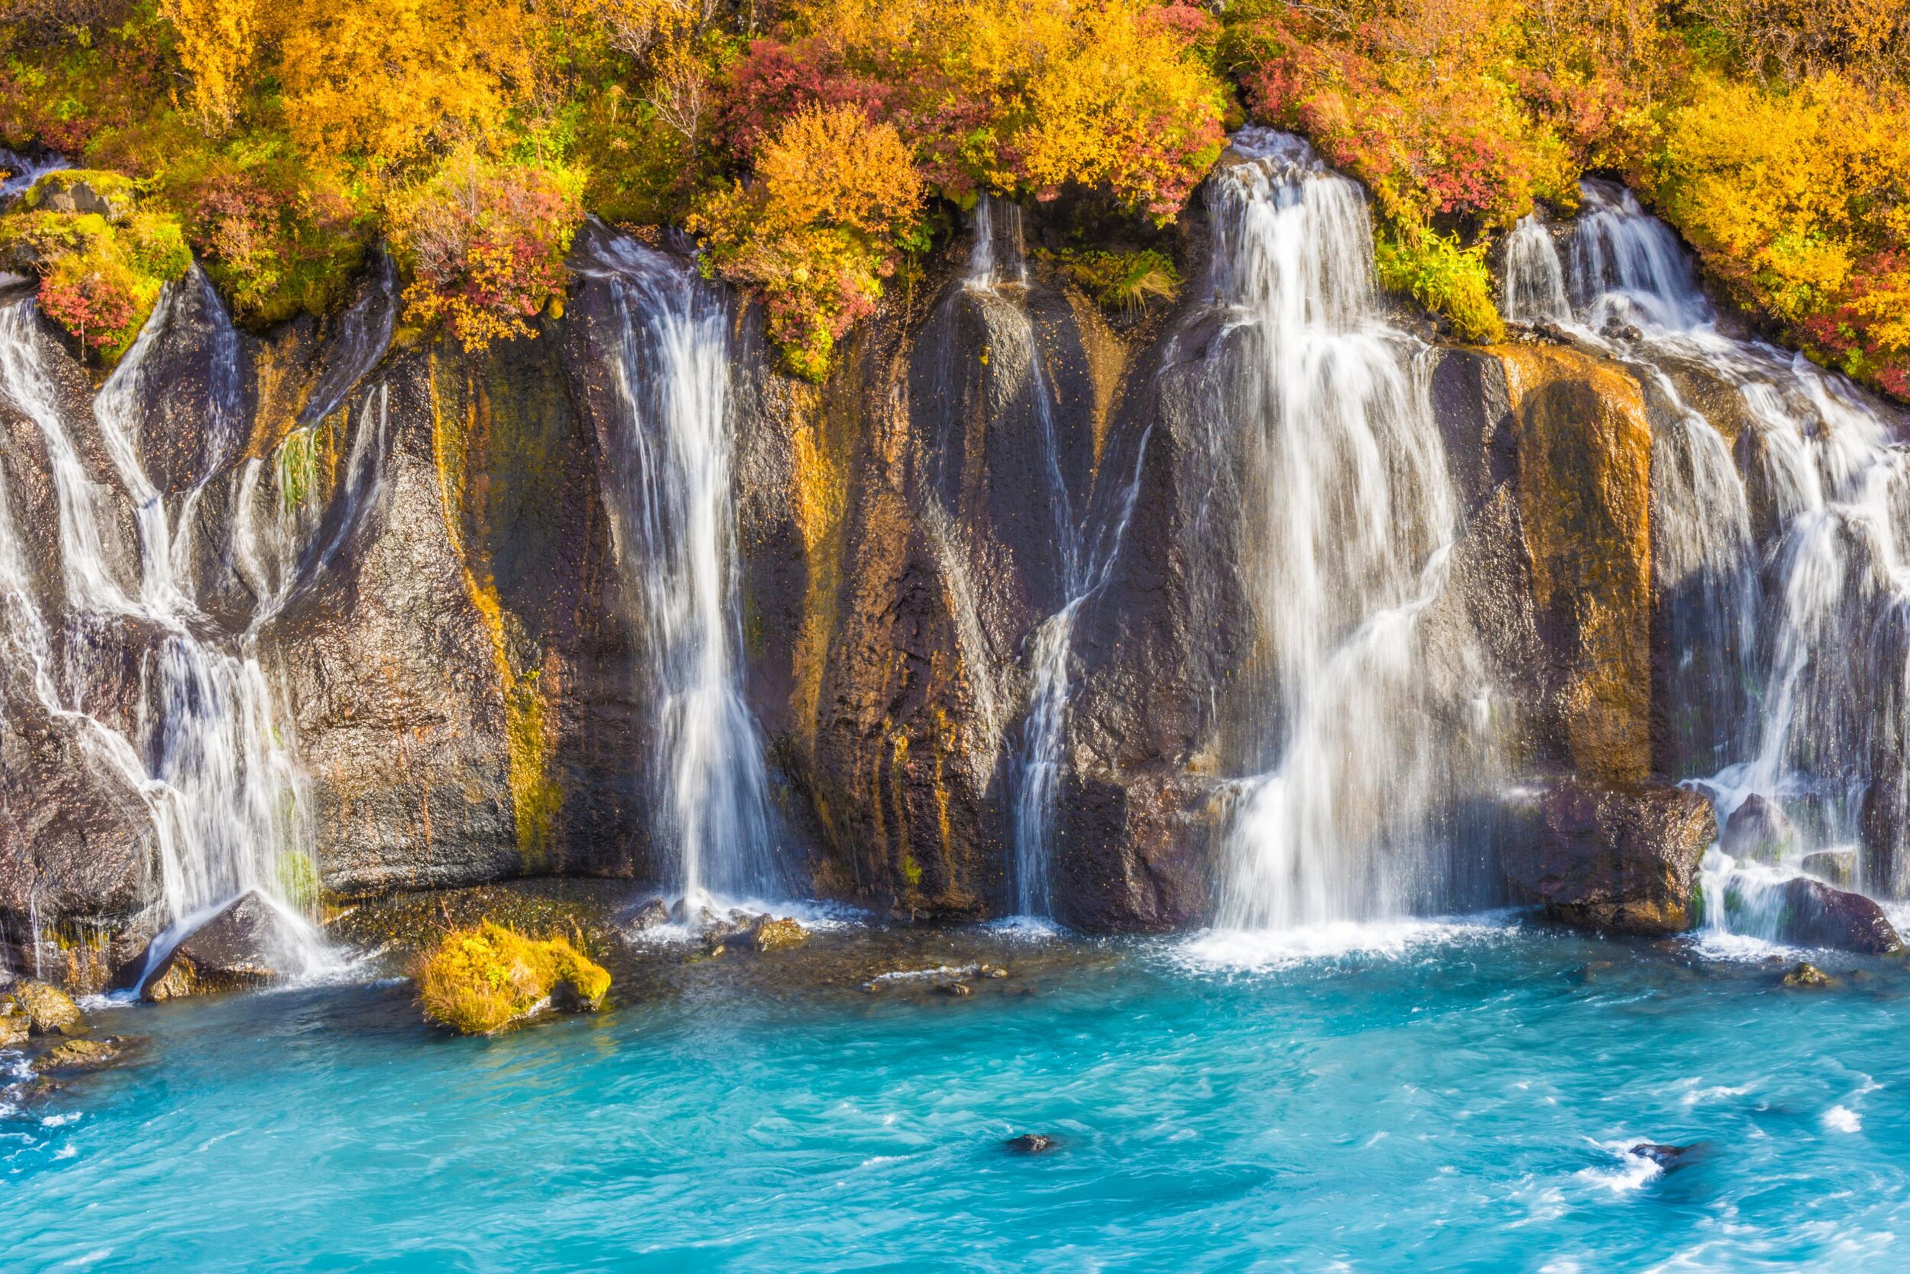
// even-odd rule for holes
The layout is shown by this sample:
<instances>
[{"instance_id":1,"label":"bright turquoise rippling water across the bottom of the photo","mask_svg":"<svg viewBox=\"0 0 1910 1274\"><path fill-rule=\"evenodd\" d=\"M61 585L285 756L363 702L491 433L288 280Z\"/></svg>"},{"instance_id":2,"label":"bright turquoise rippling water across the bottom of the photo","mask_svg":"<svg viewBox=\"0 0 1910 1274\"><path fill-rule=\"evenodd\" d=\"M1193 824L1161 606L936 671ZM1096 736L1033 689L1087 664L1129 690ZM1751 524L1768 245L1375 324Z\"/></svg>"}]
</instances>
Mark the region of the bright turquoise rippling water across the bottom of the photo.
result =
<instances>
[{"instance_id":1,"label":"bright turquoise rippling water across the bottom of the photo","mask_svg":"<svg viewBox=\"0 0 1910 1274\"><path fill-rule=\"evenodd\" d=\"M1255 942L838 930L489 1041L401 984L115 1010L143 1066L0 1121L0 1263L1845 1270L1910 1224L1897 965L1784 991L1517 917ZM871 995L871 959L1014 974Z\"/></svg>"}]
</instances>

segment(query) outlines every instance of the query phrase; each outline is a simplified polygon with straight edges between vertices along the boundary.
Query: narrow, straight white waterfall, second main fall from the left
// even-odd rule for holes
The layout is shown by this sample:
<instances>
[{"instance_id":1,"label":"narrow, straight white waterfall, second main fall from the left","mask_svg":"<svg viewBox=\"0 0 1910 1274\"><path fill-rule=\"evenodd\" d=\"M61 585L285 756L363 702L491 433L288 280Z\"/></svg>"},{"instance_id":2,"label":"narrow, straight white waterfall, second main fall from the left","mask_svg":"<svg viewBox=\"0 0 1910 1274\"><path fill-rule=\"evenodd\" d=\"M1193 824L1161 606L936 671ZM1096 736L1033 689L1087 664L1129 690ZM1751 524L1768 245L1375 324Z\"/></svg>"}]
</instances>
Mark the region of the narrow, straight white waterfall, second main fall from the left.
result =
<instances>
[{"instance_id":1,"label":"narrow, straight white waterfall, second main fall from the left","mask_svg":"<svg viewBox=\"0 0 1910 1274\"><path fill-rule=\"evenodd\" d=\"M779 894L762 741L743 701L730 313L680 262L592 248L615 313L604 499L655 693L657 842L691 902Z\"/></svg>"}]
</instances>

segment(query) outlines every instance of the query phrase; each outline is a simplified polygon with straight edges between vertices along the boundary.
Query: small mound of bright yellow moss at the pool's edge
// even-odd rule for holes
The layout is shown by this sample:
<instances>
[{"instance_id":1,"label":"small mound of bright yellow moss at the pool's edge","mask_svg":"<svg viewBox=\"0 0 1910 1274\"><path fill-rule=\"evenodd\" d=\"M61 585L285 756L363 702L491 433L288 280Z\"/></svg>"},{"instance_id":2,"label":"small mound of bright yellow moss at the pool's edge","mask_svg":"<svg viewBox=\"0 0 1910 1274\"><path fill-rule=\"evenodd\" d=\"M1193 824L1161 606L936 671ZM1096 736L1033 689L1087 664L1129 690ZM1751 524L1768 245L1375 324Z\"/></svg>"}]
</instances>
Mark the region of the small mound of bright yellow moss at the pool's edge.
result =
<instances>
[{"instance_id":1,"label":"small mound of bright yellow moss at the pool's edge","mask_svg":"<svg viewBox=\"0 0 1910 1274\"><path fill-rule=\"evenodd\" d=\"M491 1035L544 1009L596 1012L609 974L565 938L525 938L491 921L445 934L416 966L424 1016L464 1035Z\"/></svg>"}]
</instances>

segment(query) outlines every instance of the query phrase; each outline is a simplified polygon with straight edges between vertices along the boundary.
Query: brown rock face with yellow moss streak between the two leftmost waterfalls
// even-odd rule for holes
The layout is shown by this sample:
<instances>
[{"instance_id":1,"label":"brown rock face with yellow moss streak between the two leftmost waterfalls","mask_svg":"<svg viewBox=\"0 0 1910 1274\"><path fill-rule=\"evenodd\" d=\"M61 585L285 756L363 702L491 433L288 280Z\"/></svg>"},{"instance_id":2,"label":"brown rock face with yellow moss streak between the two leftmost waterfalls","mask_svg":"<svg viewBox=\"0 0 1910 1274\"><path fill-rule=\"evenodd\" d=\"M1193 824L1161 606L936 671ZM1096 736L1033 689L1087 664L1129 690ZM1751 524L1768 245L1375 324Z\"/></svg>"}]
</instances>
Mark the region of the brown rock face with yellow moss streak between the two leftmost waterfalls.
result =
<instances>
[{"instance_id":1,"label":"brown rock face with yellow moss streak between the two leftmost waterfalls","mask_svg":"<svg viewBox=\"0 0 1910 1274\"><path fill-rule=\"evenodd\" d=\"M560 340L405 351L348 399L332 508L262 638L334 890L640 865L634 669Z\"/></svg>"}]
</instances>

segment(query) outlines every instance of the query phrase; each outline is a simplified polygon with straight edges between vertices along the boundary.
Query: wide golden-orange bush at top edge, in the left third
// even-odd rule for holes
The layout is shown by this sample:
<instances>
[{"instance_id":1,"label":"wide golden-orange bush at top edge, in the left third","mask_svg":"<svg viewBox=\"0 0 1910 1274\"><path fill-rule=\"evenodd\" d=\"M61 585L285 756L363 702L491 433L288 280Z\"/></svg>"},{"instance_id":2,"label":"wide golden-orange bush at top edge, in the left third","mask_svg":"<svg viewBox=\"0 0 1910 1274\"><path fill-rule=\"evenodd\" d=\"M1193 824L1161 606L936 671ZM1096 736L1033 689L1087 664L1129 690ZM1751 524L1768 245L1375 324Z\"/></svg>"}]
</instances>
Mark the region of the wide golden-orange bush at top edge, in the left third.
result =
<instances>
[{"instance_id":1,"label":"wide golden-orange bush at top edge, in the left third","mask_svg":"<svg viewBox=\"0 0 1910 1274\"><path fill-rule=\"evenodd\" d=\"M430 145L489 143L537 76L523 0L298 0L279 31L294 141L384 168Z\"/></svg>"}]
</instances>

